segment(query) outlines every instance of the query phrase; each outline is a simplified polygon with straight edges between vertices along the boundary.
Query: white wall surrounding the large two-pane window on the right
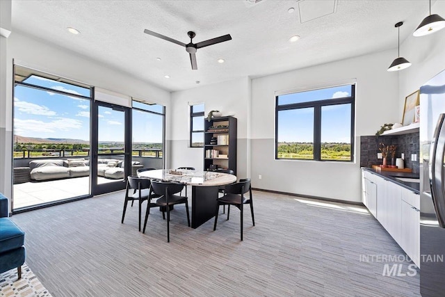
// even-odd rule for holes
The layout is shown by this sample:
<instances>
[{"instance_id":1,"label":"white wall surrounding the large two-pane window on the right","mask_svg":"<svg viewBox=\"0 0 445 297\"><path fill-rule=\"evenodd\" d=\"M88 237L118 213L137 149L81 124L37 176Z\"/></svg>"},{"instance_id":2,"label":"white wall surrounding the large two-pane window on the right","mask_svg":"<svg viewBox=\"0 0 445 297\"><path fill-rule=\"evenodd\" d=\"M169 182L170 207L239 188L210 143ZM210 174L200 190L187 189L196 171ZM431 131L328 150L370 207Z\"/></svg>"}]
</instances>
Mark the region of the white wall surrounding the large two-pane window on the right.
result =
<instances>
[{"instance_id":1,"label":"white wall surrounding the large two-pane window on the right","mask_svg":"<svg viewBox=\"0 0 445 297\"><path fill-rule=\"evenodd\" d=\"M394 51L252 79L252 184L255 188L361 201L359 136L396 122L398 74L387 72ZM275 91L357 80L355 163L275 160ZM262 179L258 178L262 175Z\"/></svg>"}]
</instances>

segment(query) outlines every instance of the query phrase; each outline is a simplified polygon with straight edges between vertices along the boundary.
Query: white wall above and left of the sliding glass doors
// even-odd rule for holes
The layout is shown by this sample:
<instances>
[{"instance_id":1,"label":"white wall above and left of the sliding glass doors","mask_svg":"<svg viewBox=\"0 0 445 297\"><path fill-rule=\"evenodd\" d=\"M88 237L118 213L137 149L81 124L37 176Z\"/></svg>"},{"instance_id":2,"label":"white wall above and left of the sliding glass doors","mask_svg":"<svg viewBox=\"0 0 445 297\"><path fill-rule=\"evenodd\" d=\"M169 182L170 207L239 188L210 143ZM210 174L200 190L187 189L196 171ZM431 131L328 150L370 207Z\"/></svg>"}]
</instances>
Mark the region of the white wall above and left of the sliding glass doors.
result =
<instances>
[{"instance_id":1,"label":"white wall above and left of the sliding glass doors","mask_svg":"<svg viewBox=\"0 0 445 297\"><path fill-rule=\"evenodd\" d=\"M6 46L3 47L3 45ZM6 49L6 51L3 48ZM3 86L3 83L6 83L6 86L13 86L13 59L15 63L19 65L49 72L50 74L56 74L60 77L112 90L131 97L137 97L138 99L145 99L148 102L162 104L166 106L167 109L170 109L170 93L168 91L153 86L146 81L140 81L126 73L106 67L96 61L74 54L66 49L49 45L17 32L11 33L7 40L1 37L1 86ZM3 72L6 72L5 69L8 69L8 73L3 75ZM11 131L12 91L8 92L4 97L1 95L0 99L0 118L2 119L0 128L3 128L3 126L7 128L6 137L8 137L5 143L1 144L1 157L5 158L6 165L3 167L3 161L1 162L0 176L3 176L1 184L3 184L3 182L4 184L3 188L0 186L0 191L3 191L3 193L10 197L10 187L12 184L10 177L10 173L12 172L12 152L10 148L12 147L12 138L10 137L10 132L8 134L8 127L9 131ZM3 106L5 107L3 108ZM6 119L4 124L3 119ZM167 131L170 131L170 122L168 120L166 121L166 126ZM4 132L2 132L2 134L4 134ZM5 135L0 136L3 139ZM166 138L169 137L167 134ZM166 158L170 157L169 150L170 148L166 147Z\"/></svg>"}]
</instances>

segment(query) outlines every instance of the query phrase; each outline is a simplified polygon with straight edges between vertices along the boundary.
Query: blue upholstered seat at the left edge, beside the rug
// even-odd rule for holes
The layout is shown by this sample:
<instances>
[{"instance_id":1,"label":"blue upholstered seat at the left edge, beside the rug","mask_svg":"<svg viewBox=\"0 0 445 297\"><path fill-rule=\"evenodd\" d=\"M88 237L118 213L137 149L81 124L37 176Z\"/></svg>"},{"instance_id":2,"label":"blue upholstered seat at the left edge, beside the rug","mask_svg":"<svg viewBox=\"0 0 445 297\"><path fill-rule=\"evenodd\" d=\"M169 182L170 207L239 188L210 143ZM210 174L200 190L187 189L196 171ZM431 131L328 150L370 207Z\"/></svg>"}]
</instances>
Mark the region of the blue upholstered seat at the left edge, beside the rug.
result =
<instances>
[{"instance_id":1,"label":"blue upholstered seat at the left edge, beside the rug","mask_svg":"<svg viewBox=\"0 0 445 297\"><path fill-rule=\"evenodd\" d=\"M8 199L0 193L0 273L17 267L17 279L22 278L24 239L24 232L8 218Z\"/></svg>"}]
</instances>

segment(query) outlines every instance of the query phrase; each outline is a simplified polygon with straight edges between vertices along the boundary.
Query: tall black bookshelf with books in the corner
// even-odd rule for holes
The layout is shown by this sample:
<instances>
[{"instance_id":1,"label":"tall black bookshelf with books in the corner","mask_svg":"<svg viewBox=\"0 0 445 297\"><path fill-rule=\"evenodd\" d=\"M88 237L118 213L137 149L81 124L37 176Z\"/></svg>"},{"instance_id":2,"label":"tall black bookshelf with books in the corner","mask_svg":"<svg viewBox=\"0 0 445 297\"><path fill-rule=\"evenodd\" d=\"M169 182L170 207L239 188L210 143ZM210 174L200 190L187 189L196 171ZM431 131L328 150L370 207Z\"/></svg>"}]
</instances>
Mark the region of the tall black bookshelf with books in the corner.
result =
<instances>
[{"instance_id":1,"label":"tall black bookshelf with books in the corner","mask_svg":"<svg viewBox=\"0 0 445 297\"><path fill-rule=\"evenodd\" d=\"M234 170L236 175L237 131L234 117L204 119L204 170L213 166Z\"/></svg>"}]
</instances>

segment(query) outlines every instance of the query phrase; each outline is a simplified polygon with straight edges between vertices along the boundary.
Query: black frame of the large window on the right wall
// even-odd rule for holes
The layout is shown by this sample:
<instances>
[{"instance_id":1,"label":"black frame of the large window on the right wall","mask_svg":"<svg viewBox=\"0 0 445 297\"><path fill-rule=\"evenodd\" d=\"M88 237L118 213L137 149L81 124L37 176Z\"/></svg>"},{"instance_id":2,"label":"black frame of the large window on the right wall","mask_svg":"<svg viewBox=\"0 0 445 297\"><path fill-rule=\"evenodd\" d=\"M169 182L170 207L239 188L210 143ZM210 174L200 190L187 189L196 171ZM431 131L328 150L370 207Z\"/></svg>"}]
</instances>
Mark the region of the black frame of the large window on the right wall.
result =
<instances>
[{"instance_id":1,"label":"black frame of the large window on the right wall","mask_svg":"<svg viewBox=\"0 0 445 297\"><path fill-rule=\"evenodd\" d=\"M300 102L292 104L278 104L278 97L275 96L275 160L298 160L298 161L330 161L330 162L346 162L353 163L354 160L354 147L355 147L355 83L345 83L337 86L351 86L351 95L348 97L330 98L323 100L314 100L310 102ZM310 90L301 90L295 93L304 93L311 90L320 90L325 88L334 88L336 86L327 86L323 88L316 88ZM287 93L289 94L289 93ZM334 106L341 104L350 104L350 160L325 160L321 159L321 108L323 106ZM279 158L278 157L278 112L291 109L304 109L314 108L314 159L296 159L296 158Z\"/></svg>"}]
</instances>

